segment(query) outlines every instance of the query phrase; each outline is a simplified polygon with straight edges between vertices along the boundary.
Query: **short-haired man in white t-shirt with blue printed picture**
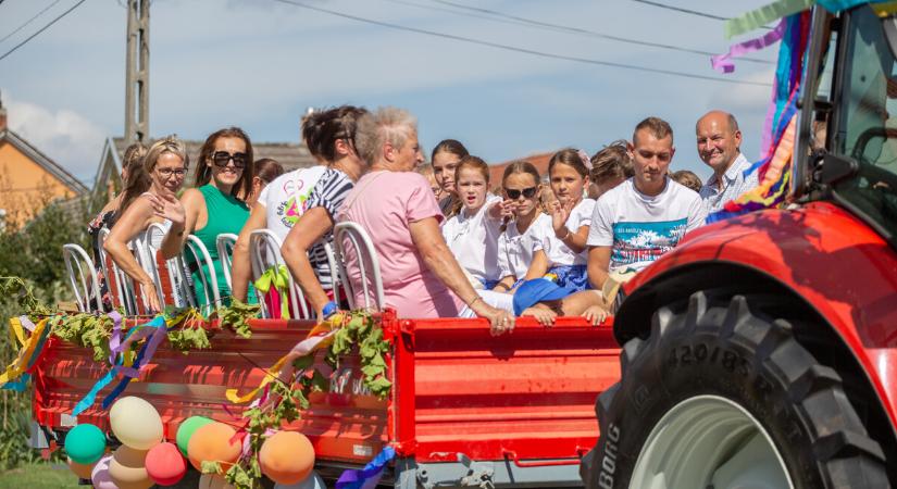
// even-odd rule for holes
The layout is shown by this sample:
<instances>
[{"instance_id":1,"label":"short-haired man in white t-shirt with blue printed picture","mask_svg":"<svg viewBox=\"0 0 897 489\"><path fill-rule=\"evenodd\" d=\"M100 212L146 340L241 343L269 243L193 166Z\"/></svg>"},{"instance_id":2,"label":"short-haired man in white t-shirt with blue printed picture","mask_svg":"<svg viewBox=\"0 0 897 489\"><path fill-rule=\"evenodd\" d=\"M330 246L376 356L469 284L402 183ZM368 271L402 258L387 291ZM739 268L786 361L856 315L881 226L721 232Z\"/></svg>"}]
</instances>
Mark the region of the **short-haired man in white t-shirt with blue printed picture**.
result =
<instances>
[{"instance_id":1,"label":"short-haired man in white t-shirt with blue printed picture","mask_svg":"<svg viewBox=\"0 0 897 489\"><path fill-rule=\"evenodd\" d=\"M599 290L610 272L644 268L707 216L700 196L668 175L675 153L670 124L641 121L628 148L635 175L602 195L591 215L588 278Z\"/></svg>"}]
</instances>

